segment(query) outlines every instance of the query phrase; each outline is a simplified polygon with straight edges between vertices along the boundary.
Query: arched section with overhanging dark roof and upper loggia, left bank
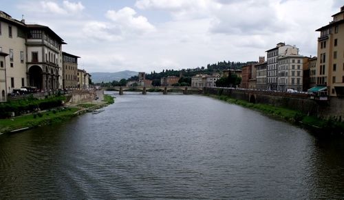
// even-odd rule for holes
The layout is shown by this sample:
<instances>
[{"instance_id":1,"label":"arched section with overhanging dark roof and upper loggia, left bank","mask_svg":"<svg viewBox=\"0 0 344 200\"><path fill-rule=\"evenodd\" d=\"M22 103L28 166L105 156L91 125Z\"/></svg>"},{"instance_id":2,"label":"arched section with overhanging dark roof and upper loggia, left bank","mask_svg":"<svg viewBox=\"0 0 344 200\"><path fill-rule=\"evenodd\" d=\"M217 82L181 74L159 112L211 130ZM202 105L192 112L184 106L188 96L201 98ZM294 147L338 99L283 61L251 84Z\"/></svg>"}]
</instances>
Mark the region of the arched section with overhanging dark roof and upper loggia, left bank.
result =
<instances>
[{"instance_id":1,"label":"arched section with overhanging dark roof and upper loggia, left bank","mask_svg":"<svg viewBox=\"0 0 344 200\"><path fill-rule=\"evenodd\" d=\"M50 91L62 89L61 37L47 26L28 24L26 41L29 86Z\"/></svg>"}]
</instances>

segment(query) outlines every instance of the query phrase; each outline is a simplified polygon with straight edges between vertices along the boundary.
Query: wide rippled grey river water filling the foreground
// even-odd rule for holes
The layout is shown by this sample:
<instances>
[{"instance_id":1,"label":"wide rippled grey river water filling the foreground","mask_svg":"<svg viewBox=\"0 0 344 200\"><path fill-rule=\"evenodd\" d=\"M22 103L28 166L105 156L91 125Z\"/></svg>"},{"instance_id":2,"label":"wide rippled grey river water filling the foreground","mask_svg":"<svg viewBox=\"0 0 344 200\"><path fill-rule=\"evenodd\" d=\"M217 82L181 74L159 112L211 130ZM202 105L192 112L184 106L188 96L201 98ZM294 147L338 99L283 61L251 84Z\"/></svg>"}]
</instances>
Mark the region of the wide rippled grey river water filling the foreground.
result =
<instances>
[{"instance_id":1,"label":"wide rippled grey river water filling the foreground","mask_svg":"<svg viewBox=\"0 0 344 200\"><path fill-rule=\"evenodd\" d=\"M344 141L209 97L118 96L0 135L0 199L344 198Z\"/></svg>"}]
</instances>

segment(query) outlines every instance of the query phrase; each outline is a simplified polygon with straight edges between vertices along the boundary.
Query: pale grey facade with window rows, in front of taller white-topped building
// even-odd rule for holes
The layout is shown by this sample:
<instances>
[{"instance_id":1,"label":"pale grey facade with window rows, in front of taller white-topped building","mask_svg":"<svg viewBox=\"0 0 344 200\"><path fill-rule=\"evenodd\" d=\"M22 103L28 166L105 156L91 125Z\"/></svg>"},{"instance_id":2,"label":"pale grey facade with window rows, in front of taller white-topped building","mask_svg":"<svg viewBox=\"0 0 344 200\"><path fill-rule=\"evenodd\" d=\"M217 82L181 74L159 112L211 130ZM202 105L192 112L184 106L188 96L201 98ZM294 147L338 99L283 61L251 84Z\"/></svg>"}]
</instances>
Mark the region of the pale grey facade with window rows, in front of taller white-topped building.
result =
<instances>
[{"instance_id":1,"label":"pale grey facade with window rows, in front of taller white-topped building","mask_svg":"<svg viewBox=\"0 0 344 200\"><path fill-rule=\"evenodd\" d=\"M303 90L303 56L289 55L280 57L278 63L277 90Z\"/></svg>"}]
</instances>

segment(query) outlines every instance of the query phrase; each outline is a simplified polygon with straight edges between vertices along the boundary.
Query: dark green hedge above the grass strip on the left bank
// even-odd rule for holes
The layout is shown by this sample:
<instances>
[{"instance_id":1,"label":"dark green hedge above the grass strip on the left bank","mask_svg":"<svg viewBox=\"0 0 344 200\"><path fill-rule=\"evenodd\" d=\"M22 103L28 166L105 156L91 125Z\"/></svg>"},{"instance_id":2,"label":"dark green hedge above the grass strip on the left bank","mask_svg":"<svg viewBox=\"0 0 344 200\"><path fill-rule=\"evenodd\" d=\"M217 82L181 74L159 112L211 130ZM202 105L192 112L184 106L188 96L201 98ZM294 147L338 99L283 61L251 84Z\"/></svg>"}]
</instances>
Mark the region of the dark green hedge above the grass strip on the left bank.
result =
<instances>
[{"instance_id":1,"label":"dark green hedge above the grass strip on the left bank","mask_svg":"<svg viewBox=\"0 0 344 200\"><path fill-rule=\"evenodd\" d=\"M26 112L33 112L37 109L47 110L56 108L62 106L63 101L65 101L65 97L63 96L47 99L34 99L31 97L28 99L8 101L0 104L0 118L10 117L10 112L14 112L17 116Z\"/></svg>"}]
</instances>

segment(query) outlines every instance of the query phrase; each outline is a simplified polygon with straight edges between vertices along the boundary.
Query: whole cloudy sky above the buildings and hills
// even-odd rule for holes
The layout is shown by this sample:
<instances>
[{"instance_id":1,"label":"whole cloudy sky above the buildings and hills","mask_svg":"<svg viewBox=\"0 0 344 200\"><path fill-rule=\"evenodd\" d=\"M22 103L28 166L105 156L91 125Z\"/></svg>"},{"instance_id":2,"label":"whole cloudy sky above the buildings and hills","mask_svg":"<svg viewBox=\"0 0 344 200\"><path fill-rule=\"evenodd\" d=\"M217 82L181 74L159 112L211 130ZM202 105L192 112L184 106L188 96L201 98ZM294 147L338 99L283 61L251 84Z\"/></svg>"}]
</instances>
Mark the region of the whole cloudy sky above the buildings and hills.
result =
<instances>
[{"instance_id":1,"label":"whole cloudy sky above the buildings and hills","mask_svg":"<svg viewBox=\"0 0 344 200\"><path fill-rule=\"evenodd\" d=\"M342 0L1 0L0 10L49 26L88 72L160 72L257 61L277 43L316 54L315 32Z\"/></svg>"}]
</instances>

